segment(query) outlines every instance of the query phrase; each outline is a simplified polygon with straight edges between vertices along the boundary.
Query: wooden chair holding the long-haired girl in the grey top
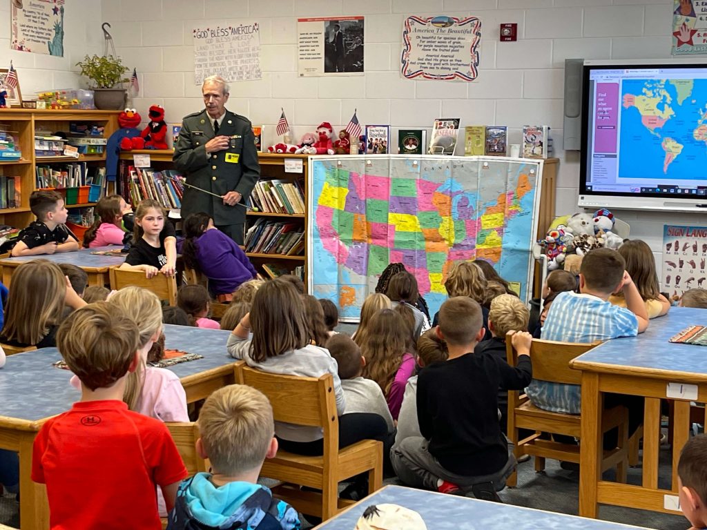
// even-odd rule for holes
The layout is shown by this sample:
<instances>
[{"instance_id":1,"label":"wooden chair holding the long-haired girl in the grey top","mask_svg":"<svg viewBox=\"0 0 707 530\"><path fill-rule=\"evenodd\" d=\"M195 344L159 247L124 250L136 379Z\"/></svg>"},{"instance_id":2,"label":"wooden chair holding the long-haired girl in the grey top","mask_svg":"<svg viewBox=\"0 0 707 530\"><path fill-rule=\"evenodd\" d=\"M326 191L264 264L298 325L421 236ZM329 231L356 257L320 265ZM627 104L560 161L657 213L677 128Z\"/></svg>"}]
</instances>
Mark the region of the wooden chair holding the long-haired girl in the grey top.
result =
<instances>
[{"instance_id":1,"label":"wooden chair holding the long-haired girl in the grey top","mask_svg":"<svg viewBox=\"0 0 707 530\"><path fill-rule=\"evenodd\" d=\"M235 380L262 391L270 400L276 421L324 430L323 456L303 457L280 450L274 459L265 460L261 476L284 482L273 489L275 497L289 502L299 512L326 520L353 503L337 498L339 482L368 472L368 493L380 489L381 442L363 440L339 449L339 418L331 374L319 378L276 375L237 363ZM322 493L301 491L299 485Z\"/></svg>"}]
</instances>

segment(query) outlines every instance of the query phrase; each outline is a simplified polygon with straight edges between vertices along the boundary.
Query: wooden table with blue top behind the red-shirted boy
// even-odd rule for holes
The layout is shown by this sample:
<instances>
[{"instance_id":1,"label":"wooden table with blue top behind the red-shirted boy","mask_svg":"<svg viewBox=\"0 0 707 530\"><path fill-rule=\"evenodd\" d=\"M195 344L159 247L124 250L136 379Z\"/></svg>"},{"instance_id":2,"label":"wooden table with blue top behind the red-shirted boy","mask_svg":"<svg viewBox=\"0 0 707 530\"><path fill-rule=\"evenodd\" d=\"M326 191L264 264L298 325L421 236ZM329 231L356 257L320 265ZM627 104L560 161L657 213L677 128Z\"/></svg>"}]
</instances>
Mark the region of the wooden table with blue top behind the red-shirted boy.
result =
<instances>
[{"instance_id":1,"label":"wooden table with blue top behind the red-shirted boy","mask_svg":"<svg viewBox=\"0 0 707 530\"><path fill-rule=\"evenodd\" d=\"M204 355L203 359L168 368L187 391L187 401L208 396L214 389L234 382L233 364L226 341L230 331L165 325L166 347ZM49 528L45 486L30 480L32 445L42 424L69 410L80 393L71 387L71 372L52 363L61 356L57 348L18 353L0 370L0 447L20 455L20 521L23 529Z\"/></svg>"}]
</instances>

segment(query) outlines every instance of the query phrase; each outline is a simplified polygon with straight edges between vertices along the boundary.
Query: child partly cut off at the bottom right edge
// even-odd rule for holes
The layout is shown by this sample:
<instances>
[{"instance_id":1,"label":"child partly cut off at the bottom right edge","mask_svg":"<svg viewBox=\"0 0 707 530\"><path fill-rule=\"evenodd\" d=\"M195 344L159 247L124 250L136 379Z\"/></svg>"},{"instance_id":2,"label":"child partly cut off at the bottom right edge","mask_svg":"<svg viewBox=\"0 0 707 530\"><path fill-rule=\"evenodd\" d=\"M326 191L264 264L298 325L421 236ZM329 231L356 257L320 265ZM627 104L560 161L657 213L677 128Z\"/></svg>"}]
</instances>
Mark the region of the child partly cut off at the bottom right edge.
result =
<instances>
[{"instance_id":1,"label":"child partly cut off at the bottom right edge","mask_svg":"<svg viewBox=\"0 0 707 530\"><path fill-rule=\"evenodd\" d=\"M690 530L707 527L707 436L689 438L677 462L680 510L692 525Z\"/></svg>"}]
</instances>

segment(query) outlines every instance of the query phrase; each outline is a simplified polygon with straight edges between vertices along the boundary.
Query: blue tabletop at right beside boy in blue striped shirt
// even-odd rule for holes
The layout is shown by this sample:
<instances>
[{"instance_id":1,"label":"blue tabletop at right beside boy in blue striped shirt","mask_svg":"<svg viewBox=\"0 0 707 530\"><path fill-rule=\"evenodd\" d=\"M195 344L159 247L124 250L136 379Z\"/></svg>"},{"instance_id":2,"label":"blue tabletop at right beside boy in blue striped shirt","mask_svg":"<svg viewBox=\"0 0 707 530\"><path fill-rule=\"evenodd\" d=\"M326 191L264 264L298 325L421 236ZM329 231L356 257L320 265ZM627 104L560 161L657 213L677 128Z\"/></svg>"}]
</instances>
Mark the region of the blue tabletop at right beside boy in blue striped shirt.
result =
<instances>
[{"instance_id":1,"label":"blue tabletop at right beside boy in blue striped shirt","mask_svg":"<svg viewBox=\"0 0 707 530\"><path fill-rule=\"evenodd\" d=\"M668 342L679 331L695 324L707 325L707 310L671 307L665 317L651 320L644 333L606 341L580 355L574 363L663 370L707 377L705 346Z\"/></svg>"}]
</instances>

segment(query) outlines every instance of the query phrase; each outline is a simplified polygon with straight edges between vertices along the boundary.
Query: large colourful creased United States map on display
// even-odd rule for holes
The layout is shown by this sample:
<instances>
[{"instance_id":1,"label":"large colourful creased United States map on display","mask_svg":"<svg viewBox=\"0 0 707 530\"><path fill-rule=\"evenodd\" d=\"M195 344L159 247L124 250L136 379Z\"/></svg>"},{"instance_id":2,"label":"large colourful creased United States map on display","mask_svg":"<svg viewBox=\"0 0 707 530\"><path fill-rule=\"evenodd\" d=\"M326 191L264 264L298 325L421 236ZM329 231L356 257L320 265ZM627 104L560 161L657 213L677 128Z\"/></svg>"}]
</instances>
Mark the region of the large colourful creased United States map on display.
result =
<instances>
[{"instance_id":1,"label":"large colourful creased United States map on display","mask_svg":"<svg viewBox=\"0 0 707 530\"><path fill-rule=\"evenodd\" d=\"M486 259L527 299L540 163L481 157L310 159L312 292L358 319L385 267L402 262L430 312L454 261Z\"/></svg>"}]
</instances>

